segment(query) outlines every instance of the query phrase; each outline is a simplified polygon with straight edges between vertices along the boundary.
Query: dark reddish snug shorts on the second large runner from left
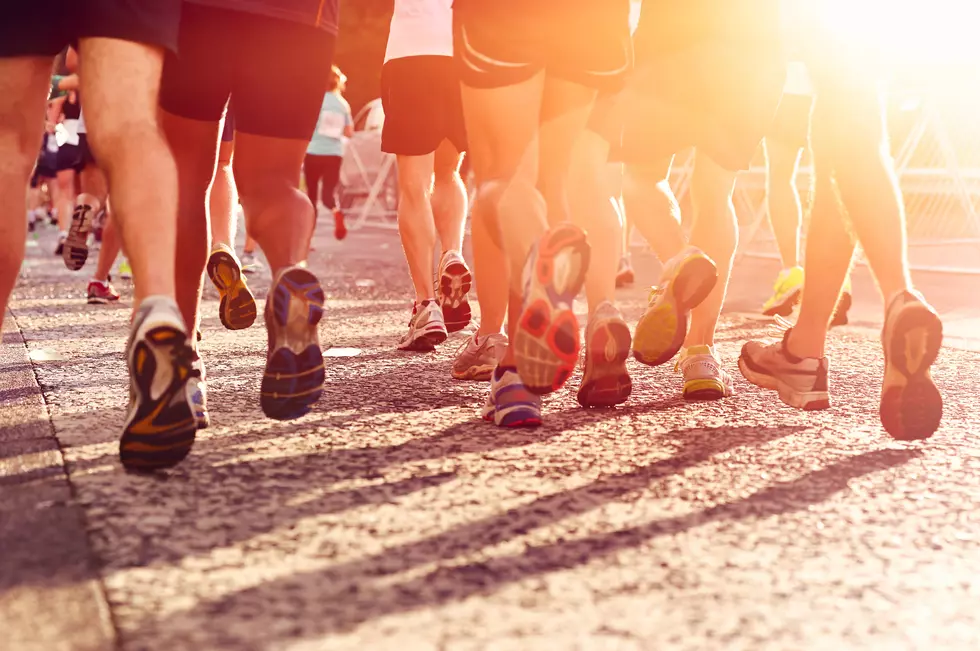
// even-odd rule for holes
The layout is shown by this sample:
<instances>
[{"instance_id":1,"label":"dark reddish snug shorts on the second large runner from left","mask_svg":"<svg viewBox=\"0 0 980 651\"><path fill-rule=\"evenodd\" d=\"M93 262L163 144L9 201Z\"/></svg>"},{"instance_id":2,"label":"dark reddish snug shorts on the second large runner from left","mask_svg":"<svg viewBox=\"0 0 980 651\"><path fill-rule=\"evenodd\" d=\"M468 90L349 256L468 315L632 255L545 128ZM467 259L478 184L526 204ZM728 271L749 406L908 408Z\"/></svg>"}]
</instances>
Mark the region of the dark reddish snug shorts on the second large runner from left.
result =
<instances>
[{"instance_id":1,"label":"dark reddish snug shorts on the second large runner from left","mask_svg":"<svg viewBox=\"0 0 980 651\"><path fill-rule=\"evenodd\" d=\"M235 130L309 141L327 92L336 37L298 22L188 3L179 56L163 68L160 106L219 122L231 96Z\"/></svg>"}]
</instances>

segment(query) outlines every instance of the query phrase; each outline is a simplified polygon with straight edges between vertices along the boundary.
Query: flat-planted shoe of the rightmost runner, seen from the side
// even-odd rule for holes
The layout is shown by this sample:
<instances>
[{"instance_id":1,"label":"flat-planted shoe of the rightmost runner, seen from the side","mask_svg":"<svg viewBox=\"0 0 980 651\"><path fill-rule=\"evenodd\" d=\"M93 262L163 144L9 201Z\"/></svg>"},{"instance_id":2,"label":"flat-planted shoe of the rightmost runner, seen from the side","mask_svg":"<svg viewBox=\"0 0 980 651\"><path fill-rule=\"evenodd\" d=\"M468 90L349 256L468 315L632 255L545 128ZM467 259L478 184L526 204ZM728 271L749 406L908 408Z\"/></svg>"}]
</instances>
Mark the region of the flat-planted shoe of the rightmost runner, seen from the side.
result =
<instances>
[{"instance_id":1,"label":"flat-planted shoe of the rightmost runner, seen from the side","mask_svg":"<svg viewBox=\"0 0 980 651\"><path fill-rule=\"evenodd\" d=\"M790 407L807 411L829 409L827 358L803 359L790 353L786 342L792 331L786 330L782 340L776 343L746 343L742 346L738 368L746 380L776 391L779 399Z\"/></svg>"}]
</instances>

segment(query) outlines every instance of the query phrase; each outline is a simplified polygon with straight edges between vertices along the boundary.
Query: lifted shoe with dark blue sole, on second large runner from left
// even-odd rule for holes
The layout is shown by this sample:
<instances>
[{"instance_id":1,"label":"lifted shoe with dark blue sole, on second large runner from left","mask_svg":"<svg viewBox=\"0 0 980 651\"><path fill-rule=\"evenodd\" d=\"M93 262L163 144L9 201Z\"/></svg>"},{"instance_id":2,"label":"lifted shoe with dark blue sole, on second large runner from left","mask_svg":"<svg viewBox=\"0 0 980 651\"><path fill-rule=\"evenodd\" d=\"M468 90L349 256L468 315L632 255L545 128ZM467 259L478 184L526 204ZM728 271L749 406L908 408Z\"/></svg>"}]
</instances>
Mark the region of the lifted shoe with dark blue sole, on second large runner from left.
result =
<instances>
[{"instance_id":1,"label":"lifted shoe with dark blue sole, on second large runner from left","mask_svg":"<svg viewBox=\"0 0 980 651\"><path fill-rule=\"evenodd\" d=\"M317 324L323 288L309 270L286 267L276 274L265 303L269 355L262 378L262 411L292 420L309 413L323 393L323 352Z\"/></svg>"}]
</instances>

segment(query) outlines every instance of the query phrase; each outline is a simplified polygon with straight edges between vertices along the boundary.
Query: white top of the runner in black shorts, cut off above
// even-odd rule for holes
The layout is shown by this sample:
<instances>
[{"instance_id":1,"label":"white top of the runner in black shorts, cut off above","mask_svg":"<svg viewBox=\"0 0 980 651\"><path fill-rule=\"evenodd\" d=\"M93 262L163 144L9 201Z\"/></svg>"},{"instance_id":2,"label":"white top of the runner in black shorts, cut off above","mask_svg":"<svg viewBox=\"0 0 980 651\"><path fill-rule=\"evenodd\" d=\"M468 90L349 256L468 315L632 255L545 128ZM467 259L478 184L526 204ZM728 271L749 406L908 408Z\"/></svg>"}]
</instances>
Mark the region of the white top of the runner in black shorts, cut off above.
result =
<instances>
[{"instance_id":1,"label":"white top of the runner in black shorts, cut off above","mask_svg":"<svg viewBox=\"0 0 980 651\"><path fill-rule=\"evenodd\" d=\"M453 0L395 0L385 63L413 56L452 55Z\"/></svg>"}]
</instances>

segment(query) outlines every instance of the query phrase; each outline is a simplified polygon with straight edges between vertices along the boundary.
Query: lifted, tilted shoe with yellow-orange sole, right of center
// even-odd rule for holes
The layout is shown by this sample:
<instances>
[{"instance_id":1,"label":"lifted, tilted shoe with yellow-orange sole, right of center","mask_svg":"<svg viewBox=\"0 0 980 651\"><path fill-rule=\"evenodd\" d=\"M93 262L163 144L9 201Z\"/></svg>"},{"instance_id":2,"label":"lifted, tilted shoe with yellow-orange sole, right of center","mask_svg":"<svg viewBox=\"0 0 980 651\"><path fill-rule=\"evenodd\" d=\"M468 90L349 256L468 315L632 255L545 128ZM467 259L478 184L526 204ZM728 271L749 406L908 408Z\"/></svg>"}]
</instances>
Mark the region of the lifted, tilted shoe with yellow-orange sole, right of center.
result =
<instances>
[{"instance_id":1,"label":"lifted, tilted shoe with yellow-orange sole, right of center","mask_svg":"<svg viewBox=\"0 0 980 651\"><path fill-rule=\"evenodd\" d=\"M650 304L636 324L633 356L647 366L666 364L684 345L691 310L708 297L718 282L714 261L696 247L674 256Z\"/></svg>"}]
</instances>

